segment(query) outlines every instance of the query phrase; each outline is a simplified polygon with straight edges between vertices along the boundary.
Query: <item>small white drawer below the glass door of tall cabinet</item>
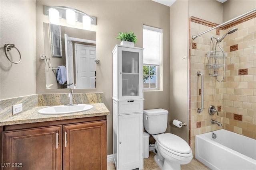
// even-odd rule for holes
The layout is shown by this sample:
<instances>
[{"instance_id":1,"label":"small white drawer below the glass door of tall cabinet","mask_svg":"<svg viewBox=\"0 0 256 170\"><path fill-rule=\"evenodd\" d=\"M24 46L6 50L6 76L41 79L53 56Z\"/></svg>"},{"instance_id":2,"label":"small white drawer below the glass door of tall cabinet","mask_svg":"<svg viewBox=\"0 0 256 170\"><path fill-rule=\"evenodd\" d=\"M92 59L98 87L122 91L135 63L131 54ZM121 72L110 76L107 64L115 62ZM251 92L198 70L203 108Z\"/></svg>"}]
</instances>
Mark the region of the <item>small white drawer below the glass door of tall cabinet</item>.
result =
<instances>
[{"instance_id":1,"label":"small white drawer below the glass door of tall cabinet","mask_svg":"<svg viewBox=\"0 0 256 170\"><path fill-rule=\"evenodd\" d=\"M127 100L119 101L119 114L125 113L136 113L143 111L143 101L142 100Z\"/></svg>"}]
</instances>

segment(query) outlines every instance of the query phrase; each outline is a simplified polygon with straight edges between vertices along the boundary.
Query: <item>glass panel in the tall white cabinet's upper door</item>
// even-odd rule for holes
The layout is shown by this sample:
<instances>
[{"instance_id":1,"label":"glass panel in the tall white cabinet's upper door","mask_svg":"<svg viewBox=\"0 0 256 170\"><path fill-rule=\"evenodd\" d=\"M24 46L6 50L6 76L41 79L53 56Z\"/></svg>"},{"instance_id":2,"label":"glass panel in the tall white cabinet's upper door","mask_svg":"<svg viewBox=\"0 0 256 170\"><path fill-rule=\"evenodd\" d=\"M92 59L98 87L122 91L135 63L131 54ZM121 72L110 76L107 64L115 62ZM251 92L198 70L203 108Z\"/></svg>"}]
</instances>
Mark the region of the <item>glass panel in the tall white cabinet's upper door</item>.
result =
<instances>
[{"instance_id":1,"label":"glass panel in the tall white cabinet's upper door","mask_svg":"<svg viewBox=\"0 0 256 170\"><path fill-rule=\"evenodd\" d=\"M139 96L139 53L122 51L122 96Z\"/></svg>"}]
</instances>

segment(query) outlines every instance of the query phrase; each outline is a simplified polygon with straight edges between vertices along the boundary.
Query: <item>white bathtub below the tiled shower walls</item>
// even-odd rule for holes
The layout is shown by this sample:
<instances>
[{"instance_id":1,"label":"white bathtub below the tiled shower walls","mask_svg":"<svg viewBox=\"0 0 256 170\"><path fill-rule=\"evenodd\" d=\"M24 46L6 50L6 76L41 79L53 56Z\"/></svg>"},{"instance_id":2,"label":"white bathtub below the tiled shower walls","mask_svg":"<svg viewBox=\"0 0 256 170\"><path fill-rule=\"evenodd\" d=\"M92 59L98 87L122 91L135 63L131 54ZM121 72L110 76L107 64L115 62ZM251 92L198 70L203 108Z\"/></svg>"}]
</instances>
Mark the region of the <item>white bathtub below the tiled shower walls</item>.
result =
<instances>
[{"instance_id":1,"label":"white bathtub below the tiled shower walls","mask_svg":"<svg viewBox=\"0 0 256 170\"><path fill-rule=\"evenodd\" d=\"M196 135L196 159L210 169L256 170L256 140L224 129Z\"/></svg>"}]
</instances>

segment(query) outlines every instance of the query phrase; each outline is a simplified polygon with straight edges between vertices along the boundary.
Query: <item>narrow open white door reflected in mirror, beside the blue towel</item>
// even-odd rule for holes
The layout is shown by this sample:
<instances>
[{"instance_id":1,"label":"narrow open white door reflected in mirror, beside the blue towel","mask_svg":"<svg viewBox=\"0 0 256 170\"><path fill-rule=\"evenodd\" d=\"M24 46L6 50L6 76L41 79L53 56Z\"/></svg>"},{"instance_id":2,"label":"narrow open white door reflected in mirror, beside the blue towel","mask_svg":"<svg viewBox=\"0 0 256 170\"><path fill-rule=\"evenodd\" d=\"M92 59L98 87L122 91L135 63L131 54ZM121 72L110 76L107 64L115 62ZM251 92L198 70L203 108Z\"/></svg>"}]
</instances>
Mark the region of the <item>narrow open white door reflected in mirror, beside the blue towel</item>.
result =
<instances>
[{"instance_id":1,"label":"narrow open white door reflected in mirror, beside the blue towel","mask_svg":"<svg viewBox=\"0 0 256 170\"><path fill-rule=\"evenodd\" d=\"M67 70L67 86L68 88L74 88L74 67L73 67L73 43L68 37L65 36L65 53L66 53L66 70Z\"/></svg>"}]
</instances>

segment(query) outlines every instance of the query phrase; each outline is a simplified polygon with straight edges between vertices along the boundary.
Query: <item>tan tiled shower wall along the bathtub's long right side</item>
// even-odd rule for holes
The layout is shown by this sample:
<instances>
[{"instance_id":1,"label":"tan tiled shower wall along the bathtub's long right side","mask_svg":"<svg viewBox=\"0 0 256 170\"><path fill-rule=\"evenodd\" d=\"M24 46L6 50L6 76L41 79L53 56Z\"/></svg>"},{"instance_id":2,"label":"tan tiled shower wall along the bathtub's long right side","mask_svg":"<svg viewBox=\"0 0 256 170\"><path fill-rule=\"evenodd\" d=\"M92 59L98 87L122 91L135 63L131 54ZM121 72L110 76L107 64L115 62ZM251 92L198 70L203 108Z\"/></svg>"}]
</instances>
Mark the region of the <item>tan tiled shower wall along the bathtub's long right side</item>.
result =
<instances>
[{"instance_id":1,"label":"tan tiled shower wall along the bathtub's long right side","mask_svg":"<svg viewBox=\"0 0 256 170\"><path fill-rule=\"evenodd\" d=\"M238 31L226 36L223 44L228 52L223 83L224 129L256 139L256 18L235 27Z\"/></svg>"}]
</instances>

